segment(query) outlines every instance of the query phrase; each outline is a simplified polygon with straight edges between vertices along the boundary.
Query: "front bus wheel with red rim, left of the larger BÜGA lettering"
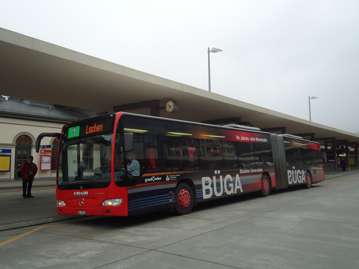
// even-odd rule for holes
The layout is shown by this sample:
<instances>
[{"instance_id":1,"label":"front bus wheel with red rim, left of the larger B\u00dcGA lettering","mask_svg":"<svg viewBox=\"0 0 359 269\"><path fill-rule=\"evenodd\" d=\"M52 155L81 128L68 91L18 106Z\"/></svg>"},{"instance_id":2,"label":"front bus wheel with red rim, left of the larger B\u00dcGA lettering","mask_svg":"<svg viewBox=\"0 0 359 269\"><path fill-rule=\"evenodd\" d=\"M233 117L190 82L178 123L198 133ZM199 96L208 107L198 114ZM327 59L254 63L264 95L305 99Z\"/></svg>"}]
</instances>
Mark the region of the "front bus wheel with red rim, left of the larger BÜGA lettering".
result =
<instances>
[{"instance_id":1,"label":"front bus wheel with red rim, left of the larger B\u00dcGA lettering","mask_svg":"<svg viewBox=\"0 0 359 269\"><path fill-rule=\"evenodd\" d=\"M177 215L189 214L193 208L194 196L192 188L187 183L180 183L176 187L174 213Z\"/></svg>"}]
</instances>

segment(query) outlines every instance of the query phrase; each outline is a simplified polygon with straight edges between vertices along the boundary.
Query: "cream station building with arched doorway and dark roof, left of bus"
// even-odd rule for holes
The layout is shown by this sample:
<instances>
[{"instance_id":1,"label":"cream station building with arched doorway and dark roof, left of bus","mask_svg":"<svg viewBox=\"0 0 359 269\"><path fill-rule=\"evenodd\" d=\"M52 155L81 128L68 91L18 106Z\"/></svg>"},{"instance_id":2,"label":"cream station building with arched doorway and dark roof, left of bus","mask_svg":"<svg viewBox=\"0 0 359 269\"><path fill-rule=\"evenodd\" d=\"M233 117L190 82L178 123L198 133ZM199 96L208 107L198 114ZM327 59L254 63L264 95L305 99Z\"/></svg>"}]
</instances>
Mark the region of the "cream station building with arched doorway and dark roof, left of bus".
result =
<instances>
[{"instance_id":1,"label":"cream station building with arched doorway and dark roof, left of bus","mask_svg":"<svg viewBox=\"0 0 359 269\"><path fill-rule=\"evenodd\" d=\"M43 132L59 133L64 124L95 114L91 110L0 96L0 181L22 180L17 171L29 156L38 166L35 179L55 178L59 140L45 137L36 153L37 136Z\"/></svg>"}]
</instances>

